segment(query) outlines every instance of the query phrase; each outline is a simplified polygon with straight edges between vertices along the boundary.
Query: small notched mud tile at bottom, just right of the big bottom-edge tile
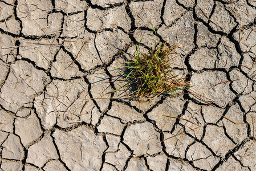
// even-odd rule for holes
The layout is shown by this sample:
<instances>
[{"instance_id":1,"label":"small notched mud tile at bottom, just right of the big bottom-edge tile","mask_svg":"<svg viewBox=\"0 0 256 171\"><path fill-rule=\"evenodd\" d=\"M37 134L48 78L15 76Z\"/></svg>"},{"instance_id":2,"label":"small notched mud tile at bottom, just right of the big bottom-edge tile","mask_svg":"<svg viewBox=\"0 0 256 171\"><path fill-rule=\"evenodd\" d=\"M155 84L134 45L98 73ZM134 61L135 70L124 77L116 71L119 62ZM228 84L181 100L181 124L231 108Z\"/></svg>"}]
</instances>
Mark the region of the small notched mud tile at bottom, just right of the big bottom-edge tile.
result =
<instances>
[{"instance_id":1,"label":"small notched mud tile at bottom, just right of the big bottom-edge tile","mask_svg":"<svg viewBox=\"0 0 256 171\"><path fill-rule=\"evenodd\" d=\"M131 152L123 144L120 144L117 152L106 153L105 162L115 165L118 170L121 170L130 155Z\"/></svg>"}]
</instances>

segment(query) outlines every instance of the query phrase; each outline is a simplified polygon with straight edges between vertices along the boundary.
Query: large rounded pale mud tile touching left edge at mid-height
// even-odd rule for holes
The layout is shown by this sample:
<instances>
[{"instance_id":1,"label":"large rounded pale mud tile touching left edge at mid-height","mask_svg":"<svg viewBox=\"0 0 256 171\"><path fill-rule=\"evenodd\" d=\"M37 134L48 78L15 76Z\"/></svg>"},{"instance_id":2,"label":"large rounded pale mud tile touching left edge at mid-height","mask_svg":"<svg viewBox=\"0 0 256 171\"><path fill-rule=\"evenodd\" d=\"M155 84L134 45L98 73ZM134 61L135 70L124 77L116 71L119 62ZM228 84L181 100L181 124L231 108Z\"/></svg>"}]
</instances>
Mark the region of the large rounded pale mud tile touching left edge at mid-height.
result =
<instances>
[{"instance_id":1,"label":"large rounded pale mud tile touching left edge at mid-height","mask_svg":"<svg viewBox=\"0 0 256 171\"><path fill-rule=\"evenodd\" d=\"M18 61L11 64L10 74L2 87L0 102L6 109L17 112L19 107L30 103L33 96L43 90L49 78L32 64Z\"/></svg>"}]
</instances>

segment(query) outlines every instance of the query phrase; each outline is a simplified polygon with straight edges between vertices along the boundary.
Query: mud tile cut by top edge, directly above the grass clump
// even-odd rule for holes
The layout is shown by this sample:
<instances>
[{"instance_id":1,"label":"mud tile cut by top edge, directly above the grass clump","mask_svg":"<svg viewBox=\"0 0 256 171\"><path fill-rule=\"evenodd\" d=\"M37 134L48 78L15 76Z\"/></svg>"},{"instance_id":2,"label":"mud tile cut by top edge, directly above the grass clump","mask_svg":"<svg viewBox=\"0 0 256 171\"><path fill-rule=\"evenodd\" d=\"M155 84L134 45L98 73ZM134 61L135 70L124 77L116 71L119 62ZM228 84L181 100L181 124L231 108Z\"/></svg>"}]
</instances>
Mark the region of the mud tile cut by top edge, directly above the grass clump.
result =
<instances>
[{"instance_id":1,"label":"mud tile cut by top edge, directly above the grass clump","mask_svg":"<svg viewBox=\"0 0 256 171\"><path fill-rule=\"evenodd\" d=\"M164 1L131 2L129 7L135 18L136 27L157 28L161 24L161 8Z\"/></svg>"}]
</instances>

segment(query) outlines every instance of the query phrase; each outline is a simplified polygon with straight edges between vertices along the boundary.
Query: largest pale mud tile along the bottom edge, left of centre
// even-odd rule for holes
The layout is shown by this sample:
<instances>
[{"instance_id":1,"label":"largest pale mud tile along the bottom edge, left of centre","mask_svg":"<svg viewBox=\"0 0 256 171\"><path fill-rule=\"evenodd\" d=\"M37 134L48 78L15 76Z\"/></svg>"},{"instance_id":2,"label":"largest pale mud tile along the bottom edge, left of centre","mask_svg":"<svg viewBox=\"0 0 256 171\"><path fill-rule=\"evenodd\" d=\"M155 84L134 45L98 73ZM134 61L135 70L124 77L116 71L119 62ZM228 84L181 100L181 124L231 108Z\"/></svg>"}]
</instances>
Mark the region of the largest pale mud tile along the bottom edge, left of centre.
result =
<instances>
[{"instance_id":1,"label":"largest pale mud tile along the bottom edge, left of centre","mask_svg":"<svg viewBox=\"0 0 256 171\"><path fill-rule=\"evenodd\" d=\"M86 127L72 129L69 132L54 132L60 158L71 170L99 170L101 156L107 146L102 136L96 136L94 131Z\"/></svg>"}]
</instances>

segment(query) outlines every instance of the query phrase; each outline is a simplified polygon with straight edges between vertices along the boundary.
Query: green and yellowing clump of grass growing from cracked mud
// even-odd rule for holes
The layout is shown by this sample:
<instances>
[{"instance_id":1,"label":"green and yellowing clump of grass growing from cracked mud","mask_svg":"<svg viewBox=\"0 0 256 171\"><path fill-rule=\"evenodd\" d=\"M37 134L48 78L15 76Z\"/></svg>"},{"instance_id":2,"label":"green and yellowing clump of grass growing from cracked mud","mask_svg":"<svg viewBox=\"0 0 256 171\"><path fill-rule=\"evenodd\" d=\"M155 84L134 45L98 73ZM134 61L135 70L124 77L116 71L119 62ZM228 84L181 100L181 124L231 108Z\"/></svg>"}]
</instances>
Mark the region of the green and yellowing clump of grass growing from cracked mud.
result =
<instances>
[{"instance_id":1,"label":"green and yellowing clump of grass growing from cracked mud","mask_svg":"<svg viewBox=\"0 0 256 171\"><path fill-rule=\"evenodd\" d=\"M156 30L153 26L152 28L157 38ZM172 59L170 55L178 46L170 47L165 42L164 44L160 43L156 48L155 40L155 46L147 54L139 51L141 40L132 60L124 63L126 72L116 68L128 81L125 86L116 91L131 86L133 89L131 96L145 97L162 93L176 93L178 89L188 87L189 83L185 82L185 78L178 79L178 76L173 75L174 70L171 69L173 63L170 62Z\"/></svg>"}]
</instances>

